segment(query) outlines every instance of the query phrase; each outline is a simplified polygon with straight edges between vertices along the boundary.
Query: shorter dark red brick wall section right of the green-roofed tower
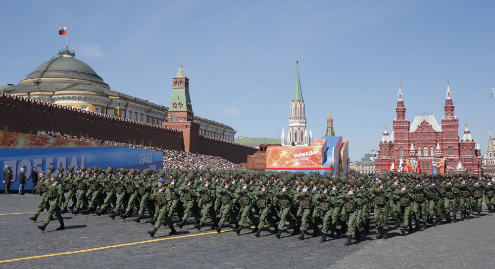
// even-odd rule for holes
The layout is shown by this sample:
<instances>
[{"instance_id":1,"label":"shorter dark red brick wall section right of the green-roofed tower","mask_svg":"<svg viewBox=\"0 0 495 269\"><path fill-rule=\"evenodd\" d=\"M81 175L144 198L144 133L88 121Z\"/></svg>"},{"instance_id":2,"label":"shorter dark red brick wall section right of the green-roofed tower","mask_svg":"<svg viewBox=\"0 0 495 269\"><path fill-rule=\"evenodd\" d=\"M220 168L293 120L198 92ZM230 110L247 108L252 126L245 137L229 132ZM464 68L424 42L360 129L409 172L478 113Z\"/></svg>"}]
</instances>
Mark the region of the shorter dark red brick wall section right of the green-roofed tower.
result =
<instances>
[{"instance_id":1,"label":"shorter dark red brick wall section right of the green-roofed tower","mask_svg":"<svg viewBox=\"0 0 495 269\"><path fill-rule=\"evenodd\" d=\"M257 151L257 147L199 135L198 153L219 156L236 164L246 163L247 156Z\"/></svg>"}]
</instances>

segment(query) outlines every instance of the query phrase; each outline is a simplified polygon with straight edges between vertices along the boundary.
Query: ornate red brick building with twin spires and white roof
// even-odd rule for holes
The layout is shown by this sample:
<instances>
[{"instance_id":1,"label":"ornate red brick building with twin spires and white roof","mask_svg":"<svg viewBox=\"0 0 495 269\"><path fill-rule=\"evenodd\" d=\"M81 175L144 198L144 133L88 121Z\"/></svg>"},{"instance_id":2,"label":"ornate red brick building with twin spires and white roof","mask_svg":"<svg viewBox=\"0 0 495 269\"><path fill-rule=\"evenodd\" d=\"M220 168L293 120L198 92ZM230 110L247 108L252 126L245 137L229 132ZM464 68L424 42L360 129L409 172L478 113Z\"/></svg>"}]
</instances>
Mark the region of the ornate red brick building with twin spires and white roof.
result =
<instances>
[{"instance_id":1,"label":"ornate red brick building with twin spires and white roof","mask_svg":"<svg viewBox=\"0 0 495 269\"><path fill-rule=\"evenodd\" d=\"M379 158L376 160L376 172L387 170L387 163L398 167L400 159L419 162L421 172L433 173L433 165L440 173L471 173L481 175L481 150L476 145L465 123L464 134L459 139L459 119L454 114L452 92L447 82L445 115L438 124L433 115L416 116L412 122L406 117L405 104L399 82L397 94L396 118L393 120L393 132L389 135L387 125L380 141ZM388 159L388 162L387 162Z\"/></svg>"}]
</instances>

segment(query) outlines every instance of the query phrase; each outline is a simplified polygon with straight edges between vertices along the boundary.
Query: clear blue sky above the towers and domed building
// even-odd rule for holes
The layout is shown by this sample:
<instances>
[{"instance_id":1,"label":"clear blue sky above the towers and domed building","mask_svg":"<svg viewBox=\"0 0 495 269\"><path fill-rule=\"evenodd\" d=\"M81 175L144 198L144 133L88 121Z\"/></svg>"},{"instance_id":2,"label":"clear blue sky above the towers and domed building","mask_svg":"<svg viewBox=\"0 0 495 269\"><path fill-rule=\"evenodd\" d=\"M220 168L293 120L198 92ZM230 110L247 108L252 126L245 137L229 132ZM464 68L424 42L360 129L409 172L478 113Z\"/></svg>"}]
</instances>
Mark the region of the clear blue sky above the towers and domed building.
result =
<instances>
[{"instance_id":1,"label":"clear blue sky above the towers and domed building","mask_svg":"<svg viewBox=\"0 0 495 269\"><path fill-rule=\"evenodd\" d=\"M146 4L143 4L146 3ZM459 118L495 131L494 1L1 1L0 85L64 45L114 90L169 104L182 60L195 114L237 135L288 128L296 60L314 137L328 108L350 158L378 148L402 81L407 116L440 123L447 78ZM389 131L391 131L389 129Z\"/></svg>"}]
</instances>

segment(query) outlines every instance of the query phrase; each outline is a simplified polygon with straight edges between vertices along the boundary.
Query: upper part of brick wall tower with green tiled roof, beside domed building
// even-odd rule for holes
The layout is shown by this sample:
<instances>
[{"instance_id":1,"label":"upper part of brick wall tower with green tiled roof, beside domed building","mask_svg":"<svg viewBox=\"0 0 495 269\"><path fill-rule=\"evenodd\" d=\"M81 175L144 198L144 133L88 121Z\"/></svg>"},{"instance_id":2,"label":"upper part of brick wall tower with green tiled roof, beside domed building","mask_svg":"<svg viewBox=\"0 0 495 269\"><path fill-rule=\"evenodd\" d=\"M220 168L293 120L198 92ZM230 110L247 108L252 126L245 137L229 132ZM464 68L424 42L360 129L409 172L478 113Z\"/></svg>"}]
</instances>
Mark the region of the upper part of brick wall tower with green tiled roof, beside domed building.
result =
<instances>
[{"instance_id":1,"label":"upper part of brick wall tower with green tiled roof, beside domed building","mask_svg":"<svg viewBox=\"0 0 495 269\"><path fill-rule=\"evenodd\" d=\"M172 95L168 107L167 119L169 122L193 121L193 105L189 95L189 79L180 64L177 75L172 79Z\"/></svg>"}]
</instances>

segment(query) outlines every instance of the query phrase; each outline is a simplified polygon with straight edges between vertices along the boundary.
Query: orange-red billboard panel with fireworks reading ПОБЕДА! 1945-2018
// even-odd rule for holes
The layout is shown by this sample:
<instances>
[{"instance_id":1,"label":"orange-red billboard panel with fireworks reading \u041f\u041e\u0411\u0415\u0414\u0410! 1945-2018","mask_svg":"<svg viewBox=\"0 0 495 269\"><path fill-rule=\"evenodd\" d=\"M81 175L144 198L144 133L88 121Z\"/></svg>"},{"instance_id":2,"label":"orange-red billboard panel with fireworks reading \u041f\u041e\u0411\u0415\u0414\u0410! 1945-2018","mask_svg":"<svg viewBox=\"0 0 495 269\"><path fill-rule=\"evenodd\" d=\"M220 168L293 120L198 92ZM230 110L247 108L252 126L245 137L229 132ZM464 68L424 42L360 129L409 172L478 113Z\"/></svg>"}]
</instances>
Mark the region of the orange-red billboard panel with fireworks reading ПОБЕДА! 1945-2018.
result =
<instances>
[{"instance_id":1,"label":"orange-red billboard panel with fireworks reading \u041f\u041e\u0411\u0415\u0414\u0410! 1945-2018","mask_svg":"<svg viewBox=\"0 0 495 269\"><path fill-rule=\"evenodd\" d=\"M310 146L277 146L266 150L266 167L321 167L327 139L315 139Z\"/></svg>"}]
</instances>

